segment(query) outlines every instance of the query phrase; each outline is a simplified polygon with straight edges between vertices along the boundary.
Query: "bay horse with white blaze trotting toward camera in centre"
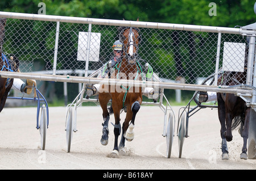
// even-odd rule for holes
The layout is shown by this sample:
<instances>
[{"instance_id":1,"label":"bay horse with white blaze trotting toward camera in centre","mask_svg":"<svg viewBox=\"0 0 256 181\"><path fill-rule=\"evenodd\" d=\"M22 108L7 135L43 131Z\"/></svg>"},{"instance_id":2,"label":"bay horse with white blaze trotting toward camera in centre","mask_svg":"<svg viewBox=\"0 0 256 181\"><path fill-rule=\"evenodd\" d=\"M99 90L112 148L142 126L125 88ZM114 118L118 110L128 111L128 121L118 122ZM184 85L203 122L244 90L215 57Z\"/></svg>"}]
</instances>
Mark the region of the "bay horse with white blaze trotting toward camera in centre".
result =
<instances>
[{"instance_id":1,"label":"bay horse with white blaze trotting toward camera in centre","mask_svg":"<svg viewBox=\"0 0 256 181\"><path fill-rule=\"evenodd\" d=\"M138 21L138 20L137 20ZM141 40L139 29L133 27L119 27L119 40L123 43L122 58L112 73L111 78L117 79L137 79L141 80L140 69L138 68L137 55L138 45ZM107 104L112 99L112 105L109 108ZM123 85L101 85L98 100L103 110L102 116L104 123L102 124L101 144L108 144L108 123L109 115L114 113L114 149L109 155L110 157L118 157L119 150L125 151L125 139L131 141L134 138L134 120L142 103L141 87L123 86ZM126 110L126 118L122 125L122 138L118 147L118 136L121 133L120 111ZM129 124L129 122L131 123Z\"/></svg>"}]
</instances>

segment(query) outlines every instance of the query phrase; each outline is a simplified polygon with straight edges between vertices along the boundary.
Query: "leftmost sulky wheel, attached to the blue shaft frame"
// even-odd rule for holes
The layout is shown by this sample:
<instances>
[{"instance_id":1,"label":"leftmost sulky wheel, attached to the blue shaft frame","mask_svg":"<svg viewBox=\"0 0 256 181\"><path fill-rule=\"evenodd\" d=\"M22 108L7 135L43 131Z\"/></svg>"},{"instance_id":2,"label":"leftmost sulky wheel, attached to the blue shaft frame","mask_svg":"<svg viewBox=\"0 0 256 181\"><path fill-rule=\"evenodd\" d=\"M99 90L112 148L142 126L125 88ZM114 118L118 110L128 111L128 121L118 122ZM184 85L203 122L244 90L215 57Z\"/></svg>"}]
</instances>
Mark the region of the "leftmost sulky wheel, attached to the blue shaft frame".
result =
<instances>
[{"instance_id":1,"label":"leftmost sulky wheel, attached to the blue shaft frame","mask_svg":"<svg viewBox=\"0 0 256 181\"><path fill-rule=\"evenodd\" d=\"M40 119L40 135L41 135L41 148L44 150L46 148L46 129L47 129L47 116L46 107L41 109L41 119Z\"/></svg>"}]
</instances>

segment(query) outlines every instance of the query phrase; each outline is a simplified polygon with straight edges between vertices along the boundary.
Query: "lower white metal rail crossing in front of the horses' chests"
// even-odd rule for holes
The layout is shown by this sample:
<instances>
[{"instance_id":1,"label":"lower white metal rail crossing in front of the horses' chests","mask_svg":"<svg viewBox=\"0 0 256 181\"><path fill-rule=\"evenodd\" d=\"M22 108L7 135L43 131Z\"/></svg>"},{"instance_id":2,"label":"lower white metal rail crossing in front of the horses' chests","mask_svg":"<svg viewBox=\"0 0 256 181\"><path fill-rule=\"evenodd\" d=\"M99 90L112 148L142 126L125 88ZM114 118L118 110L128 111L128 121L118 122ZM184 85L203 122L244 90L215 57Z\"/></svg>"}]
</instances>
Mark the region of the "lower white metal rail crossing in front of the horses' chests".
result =
<instances>
[{"instance_id":1,"label":"lower white metal rail crossing in front of the horses' chests","mask_svg":"<svg viewBox=\"0 0 256 181\"><path fill-rule=\"evenodd\" d=\"M192 91L213 91L213 92L227 92L227 93L241 93L252 94L251 89L239 89L239 88L226 88L219 86L207 86L207 85L191 85L187 83L171 83L171 82L142 82L123 79L106 79L95 77L79 77L69 75L46 75L46 74L32 74L22 72L1 71L0 77L5 78L23 78L23 79L35 79L38 81L55 81L55 82L73 82L73 83L100 83L107 85L132 85L134 87L159 87L163 89L179 89L179 90L192 90Z\"/></svg>"}]
</instances>

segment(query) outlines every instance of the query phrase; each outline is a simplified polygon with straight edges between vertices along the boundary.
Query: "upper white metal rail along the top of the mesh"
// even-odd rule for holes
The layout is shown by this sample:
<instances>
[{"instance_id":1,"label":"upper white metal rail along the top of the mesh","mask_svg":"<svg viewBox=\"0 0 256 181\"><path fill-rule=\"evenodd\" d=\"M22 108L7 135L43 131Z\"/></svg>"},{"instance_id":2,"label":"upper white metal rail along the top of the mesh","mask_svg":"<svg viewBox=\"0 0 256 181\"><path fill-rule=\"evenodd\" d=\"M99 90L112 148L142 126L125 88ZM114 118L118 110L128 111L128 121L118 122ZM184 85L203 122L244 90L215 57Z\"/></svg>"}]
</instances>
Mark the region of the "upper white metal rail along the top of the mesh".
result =
<instances>
[{"instance_id":1,"label":"upper white metal rail along the top of the mesh","mask_svg":"<svg viewBox=\"0 0 256 181\"><path fill-rule=\"evenodd\" d=\"M112 20L112 19L97 19L97 18L79 18L69 16L42 15L42 14L25 14L18 12L3 12L0 11L2 18L27 19L27 20L44 20L50 22L65 22L65 23L83 23L83 24L101 24L108 26L131 26L141 28L157 28L167 30L184 30L184 31L200 31L214 33L231 33L231 34L254 34L253 30L242 30L241 28L199 26L190 24L173 24L173 23L154 23L154 22L137 22L127 20Z\"/></svg>"}]
</instances>

